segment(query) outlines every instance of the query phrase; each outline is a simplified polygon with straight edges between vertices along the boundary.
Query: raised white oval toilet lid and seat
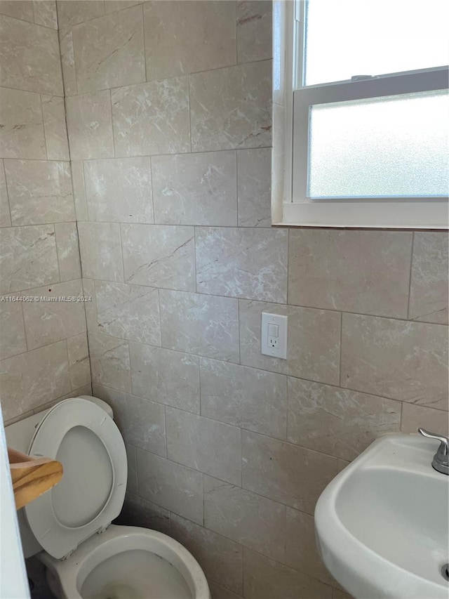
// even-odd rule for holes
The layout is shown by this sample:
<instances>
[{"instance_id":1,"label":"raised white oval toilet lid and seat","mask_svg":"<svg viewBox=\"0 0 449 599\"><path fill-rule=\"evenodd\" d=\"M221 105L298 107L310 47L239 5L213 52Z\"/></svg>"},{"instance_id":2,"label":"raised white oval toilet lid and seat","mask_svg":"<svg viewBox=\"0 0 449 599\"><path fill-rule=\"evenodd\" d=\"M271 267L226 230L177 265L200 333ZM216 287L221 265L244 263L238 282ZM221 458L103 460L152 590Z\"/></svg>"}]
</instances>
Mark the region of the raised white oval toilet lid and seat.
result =
<instances>
[{"instance_id":1,"label":"raised white oval toilet lid and seat","mask_svg":"<svg viewBox=\"0 0 449 599\"><path fill-rule=\"evenodd\" d=\"M29 455L62 463L62 480L25 506L42 548L62 558L119 515L126 491L123 438L106 412L79 398L55 405L32 438Z\"/></svg>"}]
</instances>

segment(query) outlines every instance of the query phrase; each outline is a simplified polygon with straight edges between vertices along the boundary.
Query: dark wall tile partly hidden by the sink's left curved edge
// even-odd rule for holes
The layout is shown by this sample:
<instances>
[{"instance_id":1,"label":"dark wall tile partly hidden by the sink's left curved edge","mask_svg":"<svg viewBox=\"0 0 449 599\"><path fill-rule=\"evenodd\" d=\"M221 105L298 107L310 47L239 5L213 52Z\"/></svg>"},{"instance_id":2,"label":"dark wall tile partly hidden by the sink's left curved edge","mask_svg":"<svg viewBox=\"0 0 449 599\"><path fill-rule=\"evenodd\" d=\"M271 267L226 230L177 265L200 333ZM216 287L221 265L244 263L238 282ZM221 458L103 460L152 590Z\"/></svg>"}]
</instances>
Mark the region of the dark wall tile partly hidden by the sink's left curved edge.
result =
<instances>
[{"instance_id":1,"label":"dark wall tile partly hidden by the sink's left curved edge","mask_svg":"<svg viewBox=\"0 0 449 599\"><path fill-rule=\"evenodd\" d=\"M316 550L314 517L287 508L286 565L325 584L335 584Z\"/></svg>"}]
</instances>

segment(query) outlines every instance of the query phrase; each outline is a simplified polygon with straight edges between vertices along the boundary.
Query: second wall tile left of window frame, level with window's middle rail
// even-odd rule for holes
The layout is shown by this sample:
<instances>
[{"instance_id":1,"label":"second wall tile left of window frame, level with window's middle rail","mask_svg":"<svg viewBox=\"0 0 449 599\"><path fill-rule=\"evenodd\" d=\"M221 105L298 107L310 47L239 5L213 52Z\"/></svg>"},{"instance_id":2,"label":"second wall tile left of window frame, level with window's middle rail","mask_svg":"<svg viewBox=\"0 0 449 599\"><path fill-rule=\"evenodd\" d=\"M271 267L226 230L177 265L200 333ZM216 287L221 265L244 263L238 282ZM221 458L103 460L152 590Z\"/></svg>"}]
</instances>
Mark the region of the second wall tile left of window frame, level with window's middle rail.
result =
<instances>
[{"instance_id":1,"label":"second wall tile left of window frame, level with window's middle rail","mask_svg":"<svg viewBox=\"0 0 449 599\"><path fill-rule=\"evenodd\" d=\"M189 81L164 81L112 90L116 156L190 151Z\"/></svg>"}]
</instances>

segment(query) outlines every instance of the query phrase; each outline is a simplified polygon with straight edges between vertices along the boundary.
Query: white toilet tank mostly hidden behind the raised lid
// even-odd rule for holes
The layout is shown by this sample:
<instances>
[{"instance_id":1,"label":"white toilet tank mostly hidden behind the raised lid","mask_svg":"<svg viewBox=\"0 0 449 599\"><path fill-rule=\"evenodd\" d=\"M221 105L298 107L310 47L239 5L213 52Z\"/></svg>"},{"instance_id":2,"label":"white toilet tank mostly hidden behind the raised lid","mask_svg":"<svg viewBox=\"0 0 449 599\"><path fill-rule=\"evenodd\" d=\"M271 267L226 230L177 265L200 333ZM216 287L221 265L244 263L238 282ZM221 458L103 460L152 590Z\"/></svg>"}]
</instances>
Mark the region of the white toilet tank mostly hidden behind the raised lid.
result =
<instances>
[{"instance_id":1,"label":"white toilet tank mostly hidden behind the raised lid","mask_svg":"<svg viewBox=\"0 0 449 599\"><path fill-rule=\"evenodd\" d=\"M110 407L103 400L98 399L98 397L92 397L91 395L79 395L77 399L86 400L97 404L105 410L108 416L110 416L112 419L114 418L112 407ZM8 445L8 447L11 449L16 449L18 452L27 454L29 444L31 443L32 437L34 435L34 430L36 430L43 418L46 416L46 414L48 414L49 410L50 408L43 410L38 414L27 416L27 418L24 418L23 420L6 426L6 445ZM25 555L25 558L31 558L32 555L39 553L42 548L38 541L36 541L32 530L29 528L23 508L18 510L17 516L20 528L20 537L22 538L23 554Z\"/></svg>"}]
</instances>

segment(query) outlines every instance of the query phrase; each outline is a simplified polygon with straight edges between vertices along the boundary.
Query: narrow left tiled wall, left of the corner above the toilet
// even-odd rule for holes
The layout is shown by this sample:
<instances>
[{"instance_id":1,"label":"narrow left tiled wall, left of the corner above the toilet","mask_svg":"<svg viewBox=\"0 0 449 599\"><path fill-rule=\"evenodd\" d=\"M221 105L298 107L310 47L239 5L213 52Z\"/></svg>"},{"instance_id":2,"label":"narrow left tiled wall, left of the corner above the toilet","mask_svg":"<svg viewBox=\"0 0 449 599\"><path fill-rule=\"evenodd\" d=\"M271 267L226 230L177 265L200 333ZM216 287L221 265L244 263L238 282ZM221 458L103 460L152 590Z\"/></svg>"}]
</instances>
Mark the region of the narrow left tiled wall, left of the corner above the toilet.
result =
<instances>
[{"instance_id":1,"label":"narrow left tiled wall, left of the corner above the toilet","mask_svg":"<svg viewBox=\"0 0 449 599\"><path fill-rule=\"evenodd\" d=\"M0 2L0 391L6 422L90 393L56 4Z\"/></svg>"}]
</instances>

